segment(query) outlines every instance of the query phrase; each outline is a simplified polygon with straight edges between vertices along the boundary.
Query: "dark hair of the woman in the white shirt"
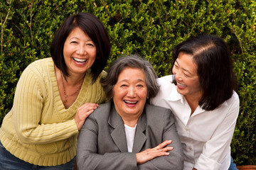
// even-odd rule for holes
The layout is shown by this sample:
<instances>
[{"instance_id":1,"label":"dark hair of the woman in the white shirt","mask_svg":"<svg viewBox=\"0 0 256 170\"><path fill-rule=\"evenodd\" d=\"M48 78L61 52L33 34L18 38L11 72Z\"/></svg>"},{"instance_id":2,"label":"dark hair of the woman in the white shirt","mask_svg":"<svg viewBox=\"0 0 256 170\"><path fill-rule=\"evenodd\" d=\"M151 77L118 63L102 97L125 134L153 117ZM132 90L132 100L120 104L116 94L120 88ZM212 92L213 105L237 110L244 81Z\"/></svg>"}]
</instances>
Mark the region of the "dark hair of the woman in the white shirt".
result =
<instances>
[{"instance_id":1,"label":"dark hair of the woman in the white shirt","mask_svg":"<svg viewBox=\"0 0 256 170\"><path fill-rule=\"evenodd\" d=\"M192 55L198 67L197 74L203 90L198 103L201 108L213 111L233 95L236 86L233 62L223 39L216 35L198 35L181 42L174 48L174 62L179 52Z\"/></svg>"}]
</instances>

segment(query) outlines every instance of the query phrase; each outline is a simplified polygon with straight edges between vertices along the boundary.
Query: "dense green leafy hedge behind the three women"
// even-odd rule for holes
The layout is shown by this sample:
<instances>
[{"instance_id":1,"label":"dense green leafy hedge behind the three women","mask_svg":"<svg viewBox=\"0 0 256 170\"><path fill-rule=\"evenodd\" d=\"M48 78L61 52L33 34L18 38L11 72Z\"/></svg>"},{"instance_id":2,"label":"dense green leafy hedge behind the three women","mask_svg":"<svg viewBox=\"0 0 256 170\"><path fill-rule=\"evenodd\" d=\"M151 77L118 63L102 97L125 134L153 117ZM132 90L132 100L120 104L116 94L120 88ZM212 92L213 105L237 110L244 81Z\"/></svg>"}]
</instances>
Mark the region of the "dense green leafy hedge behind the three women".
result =
<instances>
[{"instance_id":1,"label":"dense green leafy hedge behind the three women","mask_svg":"<svg viewBox=\"0 0 256 170\"><path fill-rule=\"evenodd\" d=\"M108 63L120 55L146 57L159 77L171 74L171 50L199 34L215 34L230 45L238 79L240 115L232 155L256 164L256 2L255 0L6 0L0 2L0 123L12 106L18 78L26 66L50 57L58 26L71 14L93 13L112 42Z\"/></svg>"}]
</instances>

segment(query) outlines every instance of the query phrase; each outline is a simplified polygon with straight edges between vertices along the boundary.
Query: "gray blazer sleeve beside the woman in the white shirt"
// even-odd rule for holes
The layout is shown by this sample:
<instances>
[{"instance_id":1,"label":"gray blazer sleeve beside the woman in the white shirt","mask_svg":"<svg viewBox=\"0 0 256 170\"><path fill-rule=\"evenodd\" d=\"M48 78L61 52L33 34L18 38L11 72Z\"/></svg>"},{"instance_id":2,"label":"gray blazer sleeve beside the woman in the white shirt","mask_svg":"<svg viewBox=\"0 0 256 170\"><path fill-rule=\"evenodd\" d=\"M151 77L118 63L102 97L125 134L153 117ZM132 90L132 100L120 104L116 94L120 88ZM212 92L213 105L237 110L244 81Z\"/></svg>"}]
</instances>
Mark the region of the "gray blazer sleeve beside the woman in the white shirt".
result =
<instances>
[{"instance_id":1,"label":"gray blazer sleeve beside the woman in the white shirt","mask_svg":"<svg viewBox=\"0 0 256 170\"><path fill-rule=\"evenodd\" d=\"M169 156L156 157L151 161L146 162L145 164L138 165L139 169L183 169L183 150L181 146L181 141L178 137L178 132L176 130L174 115L173 113L171 113L171 110L164 110L164 120L162 120L162 122L164 123L162 142L164 142L165 140L172 140L171 145L168 146L174 147L174 149L169 151Z\"/></svg>"}]
</instances>

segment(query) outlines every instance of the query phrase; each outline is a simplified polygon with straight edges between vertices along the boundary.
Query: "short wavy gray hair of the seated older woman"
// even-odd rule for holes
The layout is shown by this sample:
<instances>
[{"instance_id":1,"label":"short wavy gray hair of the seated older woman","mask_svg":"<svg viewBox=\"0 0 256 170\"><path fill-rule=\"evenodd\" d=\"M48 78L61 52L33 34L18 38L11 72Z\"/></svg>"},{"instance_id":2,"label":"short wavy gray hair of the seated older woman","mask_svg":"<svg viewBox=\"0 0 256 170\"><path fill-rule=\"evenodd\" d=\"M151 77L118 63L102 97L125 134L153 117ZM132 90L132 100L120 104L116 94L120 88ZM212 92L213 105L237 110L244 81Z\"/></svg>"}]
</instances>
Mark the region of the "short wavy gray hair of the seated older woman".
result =
<instances>
[{"instance_id":1,"label":"short wavy gray hair of the seated older woman","mask_svg":"<svg viewBox=\"0 0 256 170\"><path fill-rule=\"evenodd\" d=\"M117 84L119 74L127 67L142 69L146 76L147 95L149 98L156 96L159 85L156 83L157 75L150 62L139 55L127 55L114 60L107 70L107 77L100 80L107 97L113 97L114 85Z\"/></svg>"}]
</instances>

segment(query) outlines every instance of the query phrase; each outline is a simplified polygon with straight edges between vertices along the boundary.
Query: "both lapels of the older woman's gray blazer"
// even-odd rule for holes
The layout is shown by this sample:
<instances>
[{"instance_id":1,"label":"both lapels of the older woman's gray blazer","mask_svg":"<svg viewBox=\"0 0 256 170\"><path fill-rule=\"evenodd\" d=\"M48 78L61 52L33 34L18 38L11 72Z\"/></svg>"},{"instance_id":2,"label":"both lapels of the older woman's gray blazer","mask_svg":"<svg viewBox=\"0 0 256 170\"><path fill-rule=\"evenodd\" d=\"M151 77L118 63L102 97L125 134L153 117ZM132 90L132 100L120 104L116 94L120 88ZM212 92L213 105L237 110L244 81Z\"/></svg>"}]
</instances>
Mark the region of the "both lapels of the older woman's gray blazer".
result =
<instances>
[{"instance_id":1,"label":"both lapels of the older woman's gray blazer","mask_svg":"<svg viewBox=\"0 0 256 170\"><path fill-rule=\"evenodd\" d=\"M110 117L108 120L109 125L114 129L111 132L111 137L121 152L128 152L127 140L126 140L125 130L124 130L124 122L121 116L115 110L113 102L111 102L111 105L112 106L110 109ZM144 135L145 130L146 130L146 113L143 112L142 115L139 117L139 120L137 123L132 152L138 153L142 149L144 143L146 142L146 135Z\"/></svg>"}]
</instances>

